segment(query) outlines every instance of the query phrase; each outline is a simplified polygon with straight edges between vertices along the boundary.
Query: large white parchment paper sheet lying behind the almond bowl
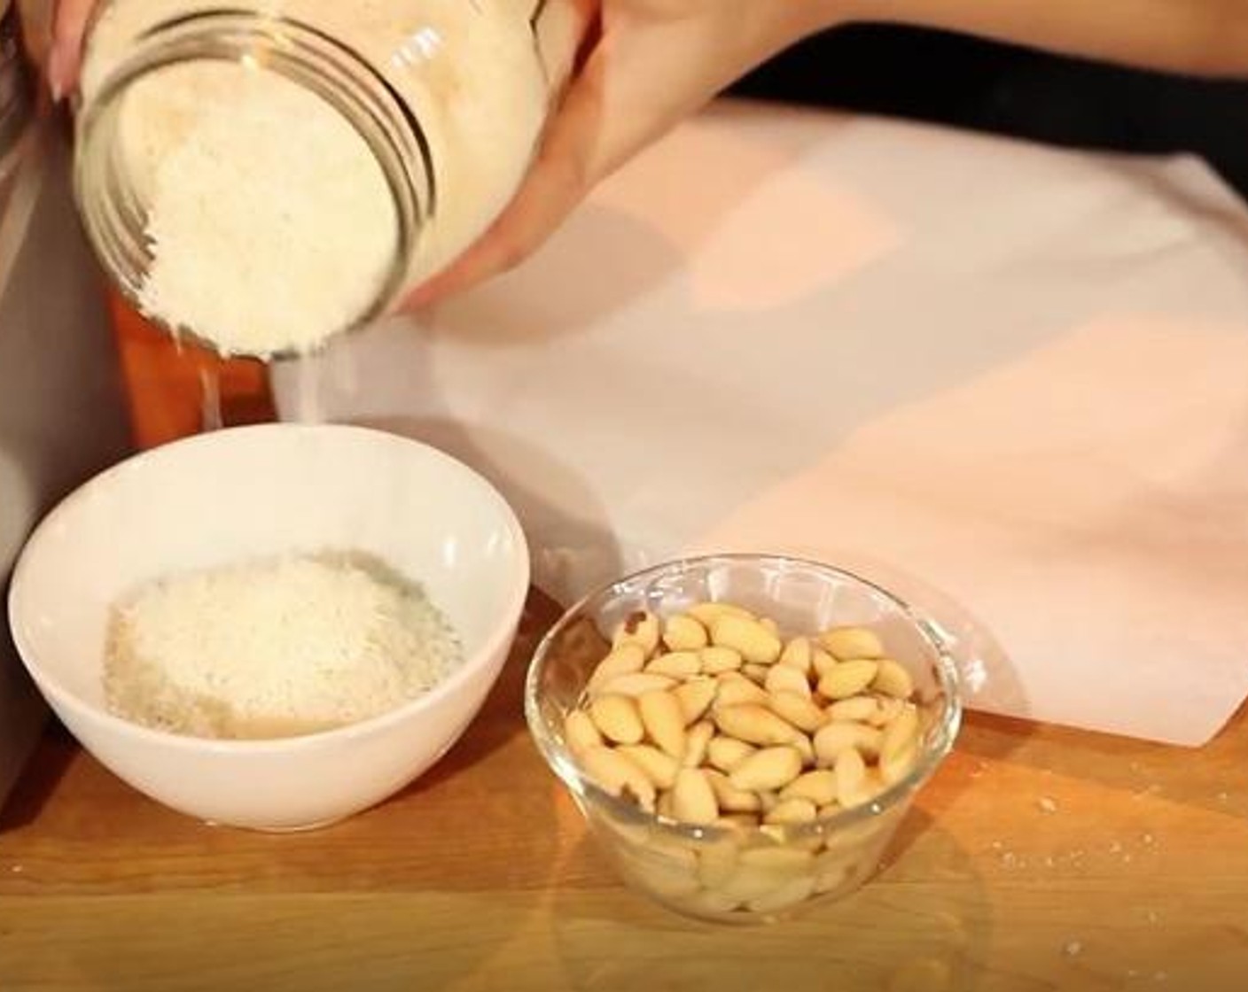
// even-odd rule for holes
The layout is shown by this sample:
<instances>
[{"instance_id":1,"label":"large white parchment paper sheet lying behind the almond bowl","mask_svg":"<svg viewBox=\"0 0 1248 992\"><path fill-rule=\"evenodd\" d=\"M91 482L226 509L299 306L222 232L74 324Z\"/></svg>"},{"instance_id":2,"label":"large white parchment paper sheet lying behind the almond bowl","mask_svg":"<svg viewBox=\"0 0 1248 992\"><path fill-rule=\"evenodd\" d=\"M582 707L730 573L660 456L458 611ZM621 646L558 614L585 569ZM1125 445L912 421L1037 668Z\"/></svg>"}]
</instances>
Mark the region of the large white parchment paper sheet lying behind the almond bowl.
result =
<instances>
[{"instance_id":1,"label":"large white parchment paper sheet lying behind the almond bowl","mask_svg":"<svg viewBox=\"0 0 1248 992\"><path fill-rule=\"evenodd\" d=\"M487 474L562 599L797 552L931 611L972 708L1197 745L1248 694L1248 212L1192 158L723 104L275 382Z\"/></svg>"}]
</instances>

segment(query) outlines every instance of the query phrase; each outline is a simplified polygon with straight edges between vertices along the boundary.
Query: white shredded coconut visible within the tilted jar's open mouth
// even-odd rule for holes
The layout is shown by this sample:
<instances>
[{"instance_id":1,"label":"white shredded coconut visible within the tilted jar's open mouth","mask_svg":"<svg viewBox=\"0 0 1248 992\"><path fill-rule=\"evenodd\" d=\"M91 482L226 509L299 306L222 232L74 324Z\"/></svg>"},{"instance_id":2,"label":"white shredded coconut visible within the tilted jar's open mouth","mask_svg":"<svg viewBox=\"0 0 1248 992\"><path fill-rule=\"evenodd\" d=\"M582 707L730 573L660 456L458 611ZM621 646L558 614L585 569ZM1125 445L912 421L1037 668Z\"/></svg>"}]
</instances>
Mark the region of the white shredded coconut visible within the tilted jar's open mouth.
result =
<instances>
[{"instance_id":1,"label":"white shredded coconut visible within the tilted jar's open mouth","mask_svg":"<svg viewBox=\"0 0 1248 992\"><path fill-rule=\"evenodd\" d=\"M187 119L177 97L191 90L213 99ZM182 112L162 116L171 99ZM151 195L144 309L227 354L260 356L308 351L364 316L398 220L377 160L336 110L276 74L215 64L166 69L127 101L132 147L163 152L145 153L140 178Z\"/></svg>"}]
</instances>

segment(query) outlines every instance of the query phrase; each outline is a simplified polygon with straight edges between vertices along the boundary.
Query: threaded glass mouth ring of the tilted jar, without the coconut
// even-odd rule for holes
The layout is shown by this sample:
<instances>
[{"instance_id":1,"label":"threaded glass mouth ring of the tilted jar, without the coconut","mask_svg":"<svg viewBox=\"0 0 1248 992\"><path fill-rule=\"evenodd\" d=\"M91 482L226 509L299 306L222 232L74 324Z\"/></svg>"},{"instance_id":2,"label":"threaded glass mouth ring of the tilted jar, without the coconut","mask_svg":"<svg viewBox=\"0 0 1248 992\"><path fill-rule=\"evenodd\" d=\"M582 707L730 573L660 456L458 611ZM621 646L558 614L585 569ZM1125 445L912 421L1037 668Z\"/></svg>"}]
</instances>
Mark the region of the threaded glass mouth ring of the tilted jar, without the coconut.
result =
<instances>
[{"instance_id":1,"label":"threaded glass mouth ring of the tilted jar, without the coconut","mask_svg":"<svg viewBox=\"0 0 1248 992\"><path fill-rule=\"evenodd\" d=\"M328 105L367 146L391 197L396 251L368 306L349 326L313 348L383 316L406 287L422 231L436 207L432 155L419 121L389 82L337 39L290 17L241 11L200 12L155 25L85 94L76 129L74 193L87 238L122 294L173 337L221 351L196 328L173 326L142 302L154 262L149 215L119 140L121 114L134 87L165 70L196 62L273 72ZM302 353L291 347L251 357L275 361Z\"/></svg>"}]
</instances>

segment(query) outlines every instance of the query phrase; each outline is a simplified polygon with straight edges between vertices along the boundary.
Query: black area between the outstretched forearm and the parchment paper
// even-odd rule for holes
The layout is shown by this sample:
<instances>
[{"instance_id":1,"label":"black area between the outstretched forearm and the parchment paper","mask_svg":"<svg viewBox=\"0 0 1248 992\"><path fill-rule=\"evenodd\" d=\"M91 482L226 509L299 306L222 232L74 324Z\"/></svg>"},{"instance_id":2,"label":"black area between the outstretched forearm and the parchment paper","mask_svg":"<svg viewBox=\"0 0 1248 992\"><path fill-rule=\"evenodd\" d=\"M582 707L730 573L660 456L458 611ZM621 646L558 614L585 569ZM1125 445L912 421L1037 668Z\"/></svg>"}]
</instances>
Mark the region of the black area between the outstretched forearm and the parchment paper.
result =
<instances>
[{"instance_id":1,"label":"black area between the outstretched forearm and the parchment paper","mask_svg":"<svg viewBox=\"0 0 1248 992\"><path fill-rule=\"evenodd\" d=\"M1189 151L1248 198L1248 82L1121 69L940 31L854 25L785 52L733 92L1072 147Z\"/></svg>"}]
</instances>

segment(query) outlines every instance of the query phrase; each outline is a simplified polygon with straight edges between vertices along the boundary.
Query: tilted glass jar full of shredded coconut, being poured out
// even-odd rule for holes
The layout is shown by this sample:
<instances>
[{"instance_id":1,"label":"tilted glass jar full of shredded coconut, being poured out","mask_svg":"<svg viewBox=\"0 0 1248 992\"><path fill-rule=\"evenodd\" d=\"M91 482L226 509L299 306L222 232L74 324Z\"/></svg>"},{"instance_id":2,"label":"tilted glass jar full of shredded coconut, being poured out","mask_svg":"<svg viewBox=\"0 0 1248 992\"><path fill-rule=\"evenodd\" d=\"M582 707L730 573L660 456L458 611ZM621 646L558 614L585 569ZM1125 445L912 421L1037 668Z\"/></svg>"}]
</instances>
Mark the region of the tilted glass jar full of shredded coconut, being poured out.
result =
<instances>
[{"instance_id":1,"label":"tilted glass jar full of shredded coconut, being poured out","mask_svg":"<svg viewBox=\"0 0 1248 992\"><path fill-rule=\"evenodd\" d=\"M222 353L384 313L518 188L584 0L106 0L75 187L142 311Z\"/></svg>"}]
</instances>

